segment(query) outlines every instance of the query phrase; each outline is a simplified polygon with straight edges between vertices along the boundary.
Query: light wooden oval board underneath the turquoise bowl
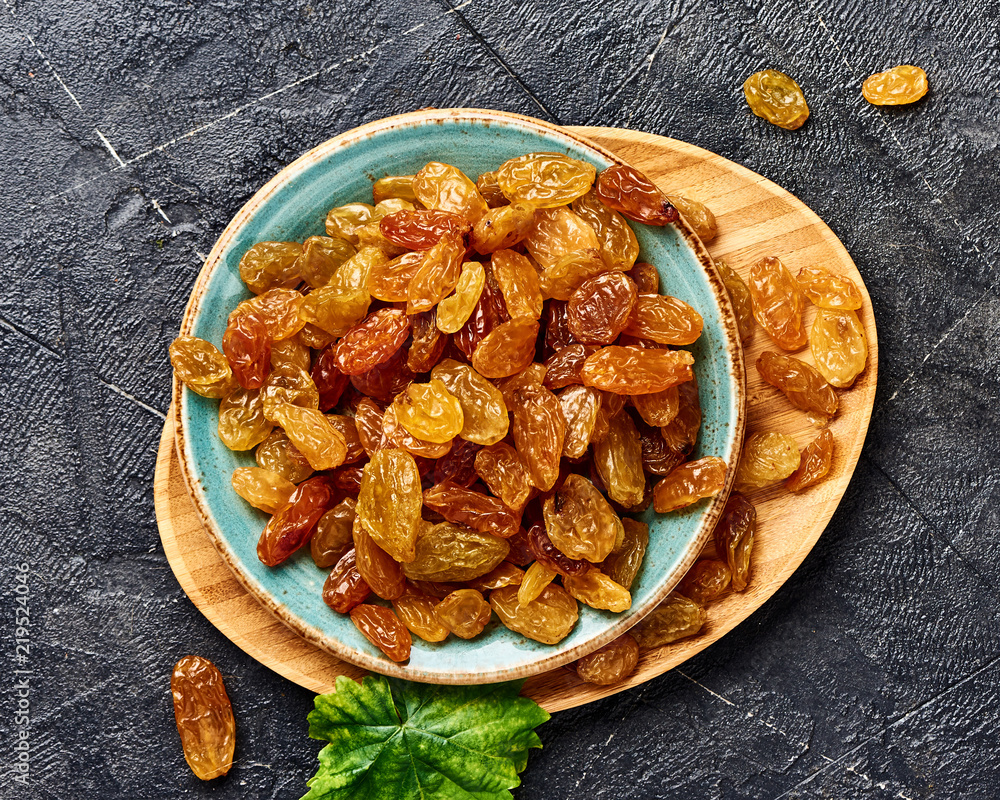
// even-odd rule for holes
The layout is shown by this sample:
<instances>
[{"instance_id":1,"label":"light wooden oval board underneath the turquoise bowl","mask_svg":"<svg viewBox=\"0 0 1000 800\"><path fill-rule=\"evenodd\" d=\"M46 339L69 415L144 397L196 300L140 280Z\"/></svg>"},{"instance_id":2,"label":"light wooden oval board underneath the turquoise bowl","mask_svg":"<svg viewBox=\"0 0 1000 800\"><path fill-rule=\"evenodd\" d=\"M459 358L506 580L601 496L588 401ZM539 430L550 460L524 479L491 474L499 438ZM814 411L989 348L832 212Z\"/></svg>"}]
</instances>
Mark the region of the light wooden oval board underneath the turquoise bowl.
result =
<instances>
[{"instance_id":1,"label":"light wooden oval board underneath the turquoise bowl","mask_svg":"<svg viewBox=\"0 0 1000 800\"><path fill-rule=\"evenodd\" d=\"M819 539L851 479L864 444L878 371L878 341L871 300L861 275L833 232L796 197L738 164L674 139L616 128L574 128L618 153L671 194L699 200L715 212L719 236L709 245L744 278L756 260L777 255L793 272L817 264L854 279L865 299L860 312L868 336L868 367L854 387L840 392L840 410L830 424L836 440L833 467L820 484L799 494L782 486L751 495L757 507L757 537L750 586L708 608L696 637L643 655L632 677L617 686L581 682L568 668L529 678L524 694L558 711L620 692L677 666L735 628L778 590ZM670 287L665 287L667 293ZM806 322L815 310L809 308ZM800 447L818 433L805 414L765 384L752 364L775 349L760 329L747 347L748 433L775 430ZM797 357L811 362L808 350ZM160 538L181 587L201 612L237 646L289 680L314 692L332 690L338 675L366 672L301 639L260 606L216 553L188 497L167 415L156 460L154 496ZM709 545L709 549L712 545Z\"/></svg>"}]
</instances>

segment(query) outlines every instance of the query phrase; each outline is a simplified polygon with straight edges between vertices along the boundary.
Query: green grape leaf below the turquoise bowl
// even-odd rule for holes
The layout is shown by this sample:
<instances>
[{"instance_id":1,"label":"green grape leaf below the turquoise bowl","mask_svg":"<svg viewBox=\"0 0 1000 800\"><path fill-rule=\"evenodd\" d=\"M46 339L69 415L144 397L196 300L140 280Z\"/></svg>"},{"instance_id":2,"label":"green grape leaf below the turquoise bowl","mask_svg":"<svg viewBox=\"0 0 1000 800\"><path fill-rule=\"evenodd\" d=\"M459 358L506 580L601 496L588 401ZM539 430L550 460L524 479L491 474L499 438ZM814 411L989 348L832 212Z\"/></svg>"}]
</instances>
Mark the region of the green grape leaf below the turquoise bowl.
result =
<instances>
[{"instance_id":1,"label":"green grape leaf below the turquoise bowl","mask_svg":"<svg viewBox=\"0 0 1000 800\"><path fill-rule=\"evenodd\" d=\"M309 713L309 735L329 744L302 800L510 800L549 718L523 683L337 678Z\"/></svg>"}]
</instances>

